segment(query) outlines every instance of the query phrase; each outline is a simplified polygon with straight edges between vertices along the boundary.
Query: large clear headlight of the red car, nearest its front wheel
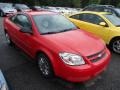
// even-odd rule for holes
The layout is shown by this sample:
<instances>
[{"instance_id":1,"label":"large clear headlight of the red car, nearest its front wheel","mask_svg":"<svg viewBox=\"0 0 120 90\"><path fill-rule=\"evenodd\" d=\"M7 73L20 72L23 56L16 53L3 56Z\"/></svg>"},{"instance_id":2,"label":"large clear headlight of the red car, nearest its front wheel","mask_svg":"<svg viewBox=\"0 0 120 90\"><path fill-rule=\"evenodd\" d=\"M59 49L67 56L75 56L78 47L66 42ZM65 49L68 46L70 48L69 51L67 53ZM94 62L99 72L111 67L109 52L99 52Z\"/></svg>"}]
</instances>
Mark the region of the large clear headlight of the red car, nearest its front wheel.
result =
<instances>
[{"instance_id":1,"label":"large clear headlight of the red car, nearest its front wheel","mask_svg":"<svg viewBox=\"0 0 120 90\"><path fill-rule=\"evenodd\" d=\"M85 61L79 55L72 53L59 53L59 56L63 60L64 63L68 65L83 65Z\"/></svg>"}]
</instances>

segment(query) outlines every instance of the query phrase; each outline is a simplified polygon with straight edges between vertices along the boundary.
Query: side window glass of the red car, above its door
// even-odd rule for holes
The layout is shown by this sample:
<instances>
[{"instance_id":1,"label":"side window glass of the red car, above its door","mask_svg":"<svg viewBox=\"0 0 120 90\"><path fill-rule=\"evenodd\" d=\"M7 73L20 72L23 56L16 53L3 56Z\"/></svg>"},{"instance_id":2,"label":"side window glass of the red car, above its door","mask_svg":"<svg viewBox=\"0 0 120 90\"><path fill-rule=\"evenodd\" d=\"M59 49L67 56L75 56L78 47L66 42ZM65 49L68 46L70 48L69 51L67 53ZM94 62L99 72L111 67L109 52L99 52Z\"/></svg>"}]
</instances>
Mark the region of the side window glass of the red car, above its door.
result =
<instances>
[{"instance_id":1,"label":"side window glass of the red car, above its door","mask_svg":"<svg viewBox=\"0 0 120 90\"><path fill-rule=\"evenodd\" d=\"M22 14L17 15L12 21L21 27L31 27L28 17Z\"/></svg>"}]
</instances>

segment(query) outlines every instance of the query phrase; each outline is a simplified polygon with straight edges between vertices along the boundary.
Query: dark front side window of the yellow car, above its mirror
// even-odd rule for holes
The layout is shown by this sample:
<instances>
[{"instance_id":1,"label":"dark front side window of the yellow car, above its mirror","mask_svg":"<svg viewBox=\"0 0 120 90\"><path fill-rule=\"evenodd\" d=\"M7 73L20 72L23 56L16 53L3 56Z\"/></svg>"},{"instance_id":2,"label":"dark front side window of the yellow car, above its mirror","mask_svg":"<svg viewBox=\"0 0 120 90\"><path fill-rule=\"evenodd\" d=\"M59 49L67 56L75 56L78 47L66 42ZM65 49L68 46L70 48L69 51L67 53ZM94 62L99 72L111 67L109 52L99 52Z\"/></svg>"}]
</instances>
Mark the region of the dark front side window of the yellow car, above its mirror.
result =
<instances>
[{"instance_id":1,"label":"dark front side window of the yellow car, above its mirror","mask_svg":"<svg viewBox=\"0 0 120 90\"><path fill-rule=\"evenodd\" d=\"M101 17L95 14L84 14L82 20L97 25L99 25L100 22L105 22Z\"/></svg>"}]
</instances>

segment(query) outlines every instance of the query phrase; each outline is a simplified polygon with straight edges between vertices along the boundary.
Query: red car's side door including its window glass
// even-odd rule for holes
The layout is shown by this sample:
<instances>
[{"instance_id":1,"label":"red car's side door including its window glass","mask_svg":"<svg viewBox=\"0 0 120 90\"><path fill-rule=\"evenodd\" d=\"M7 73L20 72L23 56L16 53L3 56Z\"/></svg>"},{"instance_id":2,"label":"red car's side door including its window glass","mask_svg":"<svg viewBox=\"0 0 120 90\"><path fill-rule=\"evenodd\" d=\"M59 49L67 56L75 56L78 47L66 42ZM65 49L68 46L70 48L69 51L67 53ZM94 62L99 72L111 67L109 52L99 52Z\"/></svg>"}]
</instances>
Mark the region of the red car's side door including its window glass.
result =
<instances>
[{"instance_id":1,"label":"red car's side door including its window glass","mask_svg":"<svg viewBox=\"0 0 120 90\"><path fill-rule=\"evenodd\" d=\"M27 15L18 14L13 20L13 23L16 25L12 29L14 30L14 38L17 46L24 50L28 55L32 56L35 46L35 35L34 30L32 29L32 23ZM29 32L22 32L21 29L30 30Z\"/></svg>"}]
</instances>

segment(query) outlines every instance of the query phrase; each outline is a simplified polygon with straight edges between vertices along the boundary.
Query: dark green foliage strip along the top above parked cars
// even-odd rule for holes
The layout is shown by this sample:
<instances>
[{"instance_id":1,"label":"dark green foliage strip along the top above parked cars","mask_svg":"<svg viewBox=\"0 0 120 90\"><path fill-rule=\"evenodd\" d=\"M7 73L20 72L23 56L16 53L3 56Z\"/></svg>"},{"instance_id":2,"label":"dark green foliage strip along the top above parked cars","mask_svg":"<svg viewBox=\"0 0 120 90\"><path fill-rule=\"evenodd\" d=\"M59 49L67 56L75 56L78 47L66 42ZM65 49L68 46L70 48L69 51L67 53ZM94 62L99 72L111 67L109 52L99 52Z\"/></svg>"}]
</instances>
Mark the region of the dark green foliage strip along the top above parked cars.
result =
<instances>
[{"instance_id":1,"label":"dark green foliage strip along the top above parked cars","mask_svg":"<svg viewBox=\"0 0 120 90\"><path fill-rule=\"evenodd\" d=\"M8 0L0 0L8 2ZM111 4L120 7L120 0L9 0L13 3L25 3L41 6L85 7L90 4Z\"/></svg>"}]
</instances>

